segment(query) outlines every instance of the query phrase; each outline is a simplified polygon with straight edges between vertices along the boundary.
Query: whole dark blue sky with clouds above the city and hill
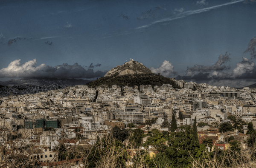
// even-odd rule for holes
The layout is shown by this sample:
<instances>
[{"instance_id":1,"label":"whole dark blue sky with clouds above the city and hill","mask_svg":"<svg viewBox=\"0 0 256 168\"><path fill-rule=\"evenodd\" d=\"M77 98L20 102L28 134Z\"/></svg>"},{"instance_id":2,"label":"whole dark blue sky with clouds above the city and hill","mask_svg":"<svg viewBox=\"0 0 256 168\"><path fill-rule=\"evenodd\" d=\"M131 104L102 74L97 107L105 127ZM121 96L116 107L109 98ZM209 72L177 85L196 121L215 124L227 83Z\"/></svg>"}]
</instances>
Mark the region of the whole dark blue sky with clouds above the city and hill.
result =
<instances>
[{"instance_id":1,"label":"whole dark blue sky with clouds above the city and hill","mask_svg":"<svg viewBox=\"0 0 256 168\"><path fill-rule=\"evenodd\" d=\"M216 86L256 83L256 0L0 0L0 81L95 80L131 58Z\"/></svg>"}]
</instances>

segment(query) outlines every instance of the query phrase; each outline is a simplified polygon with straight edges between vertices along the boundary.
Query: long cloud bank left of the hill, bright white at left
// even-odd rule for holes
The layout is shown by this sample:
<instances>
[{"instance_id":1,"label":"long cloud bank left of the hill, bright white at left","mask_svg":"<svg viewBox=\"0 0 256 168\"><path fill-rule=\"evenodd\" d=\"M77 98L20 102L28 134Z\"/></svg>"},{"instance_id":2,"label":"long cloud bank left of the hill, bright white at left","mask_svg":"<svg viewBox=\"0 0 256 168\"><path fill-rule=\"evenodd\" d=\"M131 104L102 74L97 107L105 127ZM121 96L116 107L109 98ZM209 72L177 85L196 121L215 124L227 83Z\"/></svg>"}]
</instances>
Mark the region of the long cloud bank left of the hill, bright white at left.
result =
<instances>
[{"instance_id":1,"label":"long cloud bank left of the hill, bright white at left","mask_svg":"<svg viewBox=\"0 0 256 168\"><path fill-rule=\"evenodd\" d=\"M84 69L78 63L68 65L64 63L57 66L41 64L37 67L36 59L20 65L20 60L12 61L7 68L0 70L0 77L62 77L62 78L94 78L103 77L106 72L93 69Z\"/></svg>"}]
</instances>

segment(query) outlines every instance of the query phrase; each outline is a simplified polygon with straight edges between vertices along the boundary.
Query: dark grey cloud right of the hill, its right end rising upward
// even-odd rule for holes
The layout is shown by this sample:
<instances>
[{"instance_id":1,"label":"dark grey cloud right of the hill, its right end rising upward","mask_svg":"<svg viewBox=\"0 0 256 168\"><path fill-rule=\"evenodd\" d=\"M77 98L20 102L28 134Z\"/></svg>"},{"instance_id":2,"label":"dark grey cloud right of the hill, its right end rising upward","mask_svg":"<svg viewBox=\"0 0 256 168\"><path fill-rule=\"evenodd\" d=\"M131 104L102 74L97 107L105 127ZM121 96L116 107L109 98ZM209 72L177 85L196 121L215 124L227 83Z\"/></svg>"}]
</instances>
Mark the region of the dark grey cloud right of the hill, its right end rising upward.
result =
<instances>
[{"instance_id":1,"label":"dark grey cloud right of the hill, its right end rising upward","mask_svg":"<svg viewBox=\"0 0 256 168\"><path fill-rule=\"evenodd\" d=\"M192 68L187 67L186 76L192 76L196 71L198 72L209 72L209 71L222 71L224 69L230 69L229 66L223 65L230 61L230 54L220 55L218 61L212 66L194 65Z\"/></svg>"}]
</instances>

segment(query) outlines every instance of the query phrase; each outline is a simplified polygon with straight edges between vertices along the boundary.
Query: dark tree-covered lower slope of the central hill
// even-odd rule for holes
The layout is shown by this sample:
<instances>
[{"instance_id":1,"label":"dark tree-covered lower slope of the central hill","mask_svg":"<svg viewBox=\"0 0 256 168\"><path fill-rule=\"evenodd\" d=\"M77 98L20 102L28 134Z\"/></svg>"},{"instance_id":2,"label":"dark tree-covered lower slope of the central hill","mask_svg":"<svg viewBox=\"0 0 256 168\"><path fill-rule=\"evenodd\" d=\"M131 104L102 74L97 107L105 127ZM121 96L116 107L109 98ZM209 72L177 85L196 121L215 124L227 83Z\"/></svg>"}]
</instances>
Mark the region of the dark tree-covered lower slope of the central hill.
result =
<instances>
[{"instance_id":1,"label":"dark tree-covered lower slope of the central hill","mask_svg":"<svg viewBox=\"0 0 256 168\"><path fill-rule=\"evenodd\" d=\"M126 74L126 75L112 75L107 77L101 77L98 80L91 81L87 83L89 87L96 88L100 85L107 85L111 87L112 85L125 86L125 85L155 85L161 86L163 84L171 84L173 88L179 88L178 85L175 84L175 81L170 78L163 77L158 74Z\"/></svg>"}]
</instances>

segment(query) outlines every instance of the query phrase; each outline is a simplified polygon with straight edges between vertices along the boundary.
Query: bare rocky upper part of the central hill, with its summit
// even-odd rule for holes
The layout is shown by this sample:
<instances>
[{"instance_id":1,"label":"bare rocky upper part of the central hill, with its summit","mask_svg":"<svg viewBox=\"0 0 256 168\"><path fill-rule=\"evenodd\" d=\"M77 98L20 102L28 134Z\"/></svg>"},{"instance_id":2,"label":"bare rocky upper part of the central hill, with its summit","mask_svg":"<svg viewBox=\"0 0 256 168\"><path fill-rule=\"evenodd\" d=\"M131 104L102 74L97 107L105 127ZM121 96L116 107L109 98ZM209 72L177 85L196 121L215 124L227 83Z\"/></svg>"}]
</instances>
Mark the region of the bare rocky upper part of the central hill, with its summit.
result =
<instances>
[{"instance_id":1,"label":"bare rocky upper part of the central hill, with its summit","mask_svg":"<svg viewBox=\"0 0 256 168\"><path fill-rule=\"evenodd\" d=\"M118 65L115 68L108 71L104 77L122 76L122 75L133 75L133 74L153 74L150 69L145 67L142 63L134 60L130 60L123 65Z\"/></svg>"}]
</instances>

